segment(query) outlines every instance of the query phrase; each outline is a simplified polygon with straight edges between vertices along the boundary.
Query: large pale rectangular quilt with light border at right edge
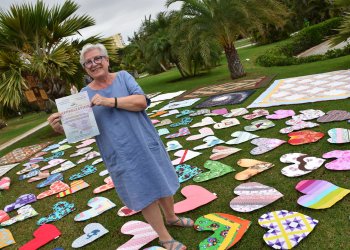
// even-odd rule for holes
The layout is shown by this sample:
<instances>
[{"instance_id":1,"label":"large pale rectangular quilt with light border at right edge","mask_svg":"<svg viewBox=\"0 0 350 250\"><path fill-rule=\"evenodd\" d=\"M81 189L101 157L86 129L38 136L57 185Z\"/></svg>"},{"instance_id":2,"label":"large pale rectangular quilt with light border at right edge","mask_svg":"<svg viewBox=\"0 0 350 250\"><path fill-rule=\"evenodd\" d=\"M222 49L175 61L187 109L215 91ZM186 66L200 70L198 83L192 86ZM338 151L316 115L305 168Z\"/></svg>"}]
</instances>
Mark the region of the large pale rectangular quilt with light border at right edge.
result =
<instances>
[{"instance_id":1,"label":"large pale rectangular quilt with light border at right edge","mask_svg":"<svg viewBox=\"0 0 350 250\"><path fill-rule=\"evenodd\" d=\"M350 97L350 70L276 80L248 108L319 102Z\"/></svg>"}]
</instances>

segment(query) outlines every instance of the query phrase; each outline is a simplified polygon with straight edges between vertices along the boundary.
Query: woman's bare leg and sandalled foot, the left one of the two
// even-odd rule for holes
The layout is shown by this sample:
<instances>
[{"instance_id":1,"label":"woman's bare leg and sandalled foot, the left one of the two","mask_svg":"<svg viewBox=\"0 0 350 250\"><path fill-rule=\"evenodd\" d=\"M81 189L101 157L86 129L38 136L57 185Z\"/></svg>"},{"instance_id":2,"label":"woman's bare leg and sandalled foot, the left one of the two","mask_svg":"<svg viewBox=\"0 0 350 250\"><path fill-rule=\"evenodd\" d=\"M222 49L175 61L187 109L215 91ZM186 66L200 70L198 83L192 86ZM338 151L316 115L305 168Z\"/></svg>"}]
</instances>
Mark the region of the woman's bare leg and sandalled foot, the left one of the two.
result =
<instances>
[{"instance_id":1,"label":"woman's bare leg and sandalled foot, the left one of the two","mask_svg":"<svg viewBox=\"0 0 350 250\"><path fill-rule=\"evenodd\" d=\"M152 226L154 231L157 232L159 235L160 241L170 241L173 238L169 234L168 230L166 229L163 221L163 216L159 208L158 201L153 202L149 206L145 207L142 210L142 215L145 218L145 220ZM180 242L174 243L173 247L176 247L177 245L181 244ZM170 243L164 244L164 247L167 249L170 249ZM186 248L183 248L186 249Z\"/></svg>"}]
</instances>

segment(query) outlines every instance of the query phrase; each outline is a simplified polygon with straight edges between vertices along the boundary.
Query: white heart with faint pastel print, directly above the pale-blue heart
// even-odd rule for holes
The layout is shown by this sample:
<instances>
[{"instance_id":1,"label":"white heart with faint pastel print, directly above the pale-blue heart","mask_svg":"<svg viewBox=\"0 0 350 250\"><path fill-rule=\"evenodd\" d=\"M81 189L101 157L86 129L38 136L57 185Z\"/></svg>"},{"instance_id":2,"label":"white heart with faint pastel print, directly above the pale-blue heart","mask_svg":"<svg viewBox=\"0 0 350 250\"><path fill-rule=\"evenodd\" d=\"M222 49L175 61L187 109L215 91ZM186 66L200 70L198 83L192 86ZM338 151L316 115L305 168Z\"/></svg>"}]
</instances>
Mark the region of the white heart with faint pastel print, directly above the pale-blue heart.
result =
<instances>
[{"instance_id":1,"label":"white heart with faint pastel print, directly above the pale-blue heart","mask_svg":"<svg viewBox=\"0 0 350 250\"><path fill-rule=\"evenodd\" d=\"M87 204L91 207L89 210L81 212L74 217L75 221L84 221L96 217L107 210L114 208L115 204L105 197L94 197Z\"/></svg>"}]
</instances>

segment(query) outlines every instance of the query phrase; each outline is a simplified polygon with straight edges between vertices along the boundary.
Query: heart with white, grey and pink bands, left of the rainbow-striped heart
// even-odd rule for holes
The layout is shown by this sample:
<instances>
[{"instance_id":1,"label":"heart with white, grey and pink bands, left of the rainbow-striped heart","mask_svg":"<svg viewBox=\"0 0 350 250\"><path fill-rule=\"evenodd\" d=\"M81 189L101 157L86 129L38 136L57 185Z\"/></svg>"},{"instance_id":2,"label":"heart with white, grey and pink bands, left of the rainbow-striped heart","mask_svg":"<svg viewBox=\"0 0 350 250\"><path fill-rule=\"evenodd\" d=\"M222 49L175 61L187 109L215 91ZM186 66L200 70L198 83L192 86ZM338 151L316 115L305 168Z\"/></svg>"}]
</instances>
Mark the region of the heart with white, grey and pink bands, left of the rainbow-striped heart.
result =
<instances>
[{"instance_id":1,"label":"heart with white, grey and pink bands, left of the rainbow-striped heart","mask_svg":"<svg viewBox=\"0 0 350 250\"><path fill-rule=\"evenodd\" d=\"M260 209L283 197L278 190L258 182L240 184L233 192L238 196L231 200L230 207L242 213Z\"/></svg>"}]
</instances>

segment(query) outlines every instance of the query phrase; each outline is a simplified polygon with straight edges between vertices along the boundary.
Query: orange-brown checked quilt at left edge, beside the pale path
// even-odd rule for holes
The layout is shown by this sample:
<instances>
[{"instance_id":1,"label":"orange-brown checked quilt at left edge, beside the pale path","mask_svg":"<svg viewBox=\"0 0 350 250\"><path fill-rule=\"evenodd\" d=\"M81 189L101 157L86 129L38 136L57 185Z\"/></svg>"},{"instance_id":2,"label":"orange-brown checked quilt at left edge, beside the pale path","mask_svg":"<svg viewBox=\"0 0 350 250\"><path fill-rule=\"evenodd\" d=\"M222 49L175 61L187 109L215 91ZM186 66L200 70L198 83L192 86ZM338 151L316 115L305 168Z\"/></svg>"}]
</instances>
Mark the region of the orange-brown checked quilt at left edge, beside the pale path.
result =
<instances>
[{"instance_id":1,"label":"orange-brown checked quilt at left edge, beside the pale path","mask_svg":"<svg viewBox=\"0 0 350 250\"><path fill-rule=\"evenodd\" d=\"M29 159L33 154L41 151L43 148L47 147L47 145L49 144L51 144L51 142L45 142L45 143L35 144L32 146L27 146L23 148L17 148L0 158L0 166L18 163L26 159Z\"/></svg>"}]
</instances>

